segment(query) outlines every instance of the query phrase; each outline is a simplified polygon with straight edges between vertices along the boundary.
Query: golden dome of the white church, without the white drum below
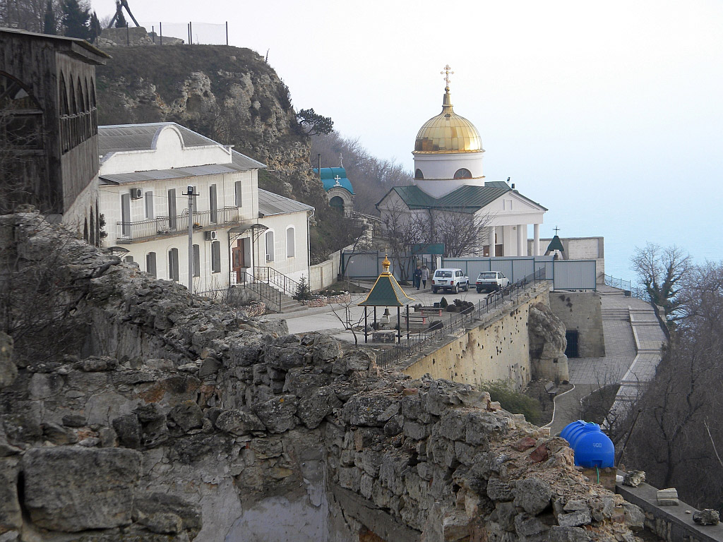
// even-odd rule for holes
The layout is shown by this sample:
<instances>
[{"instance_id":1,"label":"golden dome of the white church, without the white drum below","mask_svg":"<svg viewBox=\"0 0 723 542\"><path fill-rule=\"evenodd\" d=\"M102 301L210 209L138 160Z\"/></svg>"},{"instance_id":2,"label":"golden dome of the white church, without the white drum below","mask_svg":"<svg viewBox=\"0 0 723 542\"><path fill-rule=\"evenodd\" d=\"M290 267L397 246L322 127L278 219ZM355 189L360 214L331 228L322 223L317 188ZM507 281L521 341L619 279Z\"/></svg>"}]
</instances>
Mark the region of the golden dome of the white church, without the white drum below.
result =
<instances>
[{"instance_id":1,"label":"golden dome of the white church, without the white drum below","mask_svg":"<svg viewBox=\"0 0 723 542\"><path fill-rule=\"evenodd\" d=\"M452 109L450 87L445 87L442 113L424 123L416 134L413 154L482 152L482 137L470 121Z\"/></svg>"}]
</instances>

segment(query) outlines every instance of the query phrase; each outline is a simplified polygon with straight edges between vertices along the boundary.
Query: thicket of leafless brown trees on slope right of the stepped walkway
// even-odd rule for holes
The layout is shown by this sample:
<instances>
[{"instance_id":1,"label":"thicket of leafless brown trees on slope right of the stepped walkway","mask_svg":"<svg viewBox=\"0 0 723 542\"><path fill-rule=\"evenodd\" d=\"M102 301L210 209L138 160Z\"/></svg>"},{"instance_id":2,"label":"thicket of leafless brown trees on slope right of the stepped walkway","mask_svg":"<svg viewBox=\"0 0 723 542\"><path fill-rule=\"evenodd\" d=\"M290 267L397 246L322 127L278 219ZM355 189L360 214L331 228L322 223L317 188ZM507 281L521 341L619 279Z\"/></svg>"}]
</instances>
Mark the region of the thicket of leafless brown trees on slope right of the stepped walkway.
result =
<instances>
[{"instance_id":1,"label":"thicket of leafless brown trees on slope right of the stepped walkway","mask_svg":"<svg viewBox=\"0 0 723 542\"><path fill-rule=\"evenodd\" d=\"M675 486L697 507L723 500L723 263L691 273L680 292L685 314L633 416L626 461L653 485Z\"/></svg>"}]
</instances>

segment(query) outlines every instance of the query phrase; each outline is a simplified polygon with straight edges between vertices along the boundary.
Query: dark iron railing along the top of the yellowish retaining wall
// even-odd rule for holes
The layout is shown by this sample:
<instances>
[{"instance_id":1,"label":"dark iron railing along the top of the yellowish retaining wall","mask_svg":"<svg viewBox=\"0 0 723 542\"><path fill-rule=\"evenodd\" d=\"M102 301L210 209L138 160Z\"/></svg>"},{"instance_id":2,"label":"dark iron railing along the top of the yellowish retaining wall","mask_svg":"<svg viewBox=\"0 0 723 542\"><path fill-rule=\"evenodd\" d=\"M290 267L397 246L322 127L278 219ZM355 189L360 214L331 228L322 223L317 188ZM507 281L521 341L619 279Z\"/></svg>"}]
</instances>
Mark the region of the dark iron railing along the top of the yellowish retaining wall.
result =
<instances>
[{"instance_id":1,"label":"dark iron railing along the top of the yellowish retaining wall","mask_svg":"<svg viewBox=\"0 0 723 542\"><path fill-rule=\"evenodd\" d=\"M410 333L404 343L395 345L378 355L377 365L388 367L414 356L414 354L424 350L424 348L440 340L445 335L450 335L455 330L468 327L475 319L482 317L483 314L497 309L498 306L513 298L518 298L529 285L535 285L542 280L549 280L544 267L518 280L516 283L505 286L500 291L490 293L484 298L484 301L478 301L476 307L469 307L469 309L462 312L450 312L448 321L446 317L442 317L439 322L441 325L430 326L435 327L435 329ZM399 324L401 325L401 322Z\"/></svg>"}]
</instances>

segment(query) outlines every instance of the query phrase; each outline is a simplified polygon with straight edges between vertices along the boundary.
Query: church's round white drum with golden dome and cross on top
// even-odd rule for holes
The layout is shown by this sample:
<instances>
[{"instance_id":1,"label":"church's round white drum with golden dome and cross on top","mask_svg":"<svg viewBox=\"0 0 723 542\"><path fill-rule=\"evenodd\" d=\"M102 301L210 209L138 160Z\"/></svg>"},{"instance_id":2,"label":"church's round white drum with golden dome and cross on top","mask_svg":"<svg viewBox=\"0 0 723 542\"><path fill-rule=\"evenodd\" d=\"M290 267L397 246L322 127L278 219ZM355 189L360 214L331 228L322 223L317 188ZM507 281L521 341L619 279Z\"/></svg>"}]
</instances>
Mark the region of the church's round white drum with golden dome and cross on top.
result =
<instances>
[{"instance_id":1,"label":"church's round white drum with golden dome and cross on top","mask_svg":"<svg viewBox=\"0 0 723 542\"><path fill-rule=\"evenodd\" d=\"M414 143L414 182L440 197L460 186L484 186L482 138L470 121L457 115L450 97L450 66L445 66L442 113L424 123Z\"/></svg>"}]
</instances>

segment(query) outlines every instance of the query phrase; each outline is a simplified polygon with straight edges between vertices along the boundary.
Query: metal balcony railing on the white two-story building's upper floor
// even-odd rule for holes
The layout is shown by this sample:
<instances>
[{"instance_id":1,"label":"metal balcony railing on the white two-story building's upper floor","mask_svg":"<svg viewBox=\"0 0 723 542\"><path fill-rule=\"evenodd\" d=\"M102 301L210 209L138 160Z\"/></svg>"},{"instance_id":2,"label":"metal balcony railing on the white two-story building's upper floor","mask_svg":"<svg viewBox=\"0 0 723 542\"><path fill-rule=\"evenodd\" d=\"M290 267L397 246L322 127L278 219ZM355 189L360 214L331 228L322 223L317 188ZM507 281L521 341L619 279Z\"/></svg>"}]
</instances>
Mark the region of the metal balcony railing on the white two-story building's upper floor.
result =
<instances>
[{"instance_id":1,"label":"metal balcony railing on the white two-story building's upper floor","mask_svg":"<svg viewBox=\"0 0 723 542\"><path fill-rule=\"evenodd\" d=\"M238 224L241 221L239 207L221 207L217 210L193 213L194 229L220 228L223 225ZM175 218L161 216L137 222L119 222L116 232L118 244L137 243L156 237L174 237L188 233L188 212Z\"/></svg>"}]
</instances>

